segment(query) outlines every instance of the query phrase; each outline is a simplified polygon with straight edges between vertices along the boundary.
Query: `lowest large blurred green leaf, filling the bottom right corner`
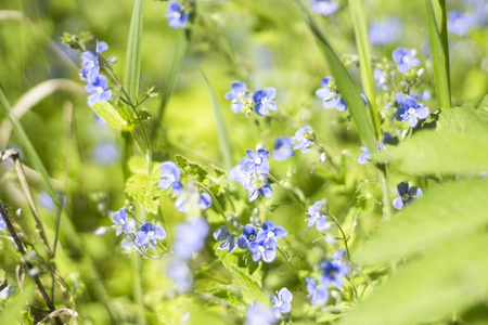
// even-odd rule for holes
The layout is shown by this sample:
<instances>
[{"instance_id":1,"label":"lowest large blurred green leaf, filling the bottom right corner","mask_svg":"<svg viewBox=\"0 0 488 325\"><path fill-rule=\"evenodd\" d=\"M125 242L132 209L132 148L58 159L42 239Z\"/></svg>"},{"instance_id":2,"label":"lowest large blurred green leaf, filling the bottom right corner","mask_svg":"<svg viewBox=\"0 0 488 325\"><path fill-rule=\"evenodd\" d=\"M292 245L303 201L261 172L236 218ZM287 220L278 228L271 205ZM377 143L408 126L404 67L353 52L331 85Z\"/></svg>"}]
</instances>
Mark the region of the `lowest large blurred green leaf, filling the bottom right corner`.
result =
<instances>
[{"instance_id":1,"label":"lowest large blurred green leaf, filling the bottom right corner","mask_svg":"<svg viewBox=\"0 0 488 325\"><path fill-rule=\"evenodd\" d=\"M453 313L486 302L487 247L488 236L480 232L449 240L416 261L407 261L404 269L359 302L339 324L427 324L452 320Z\"/></svg>"}]
</instances>

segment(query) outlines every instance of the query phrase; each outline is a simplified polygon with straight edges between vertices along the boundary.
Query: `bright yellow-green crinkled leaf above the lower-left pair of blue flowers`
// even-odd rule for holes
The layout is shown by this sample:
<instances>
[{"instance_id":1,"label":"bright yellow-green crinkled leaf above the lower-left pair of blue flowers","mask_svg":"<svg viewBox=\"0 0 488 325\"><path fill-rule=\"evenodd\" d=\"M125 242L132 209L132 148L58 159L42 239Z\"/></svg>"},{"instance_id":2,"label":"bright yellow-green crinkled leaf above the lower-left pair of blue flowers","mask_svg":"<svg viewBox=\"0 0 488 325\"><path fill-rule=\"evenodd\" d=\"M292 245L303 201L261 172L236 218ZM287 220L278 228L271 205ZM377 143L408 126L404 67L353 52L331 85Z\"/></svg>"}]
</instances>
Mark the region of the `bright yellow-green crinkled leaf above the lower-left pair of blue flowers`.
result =
<instances>
[{"instance_id":1,"label":"bright yellow-green crinkled leaf above the lower-left pair of blue flowers","mask_svg":"<svg viewBox=\"0 0 488 325\"><path fill-rule=\"evenodd\" d=\"M126 183L126 193L136 199L149 212L156 214L159 196L165 192L157 186L160 180L159 164L153 162L151 170L144 158L134 156L129 160L132 172Z\"/></svg>"}]
</instances>

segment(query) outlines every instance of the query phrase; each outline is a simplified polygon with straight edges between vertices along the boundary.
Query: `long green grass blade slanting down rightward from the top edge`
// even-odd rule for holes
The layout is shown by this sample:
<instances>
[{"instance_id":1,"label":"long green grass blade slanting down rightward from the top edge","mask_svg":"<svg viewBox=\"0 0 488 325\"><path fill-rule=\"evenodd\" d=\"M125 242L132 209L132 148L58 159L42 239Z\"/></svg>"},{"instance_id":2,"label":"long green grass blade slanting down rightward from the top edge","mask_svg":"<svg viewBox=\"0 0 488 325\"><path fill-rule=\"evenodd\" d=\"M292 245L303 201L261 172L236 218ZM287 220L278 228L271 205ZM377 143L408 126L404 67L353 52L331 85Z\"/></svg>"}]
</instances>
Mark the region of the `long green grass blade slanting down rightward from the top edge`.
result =
<instances>
[{"instance_id":1,"label":"long green grass blade slanting down rightward from the top edge","mask_svg":"<svg viewBox=\"0 0 488 325\"><path fill-rule=\"evenodd\" d=\"M371 122L368 118L367 110L364 109L364 103L362 102L359 89L356 86L352 77L343 65L337 54L335 54L326 38L320 31L317 23L308 12L307 8L305 8L300 0L291 1L303 13L305 21L307 22L311 32L317 40L317 44L319 46L320 51L325 56L331 74L336 80L338 89L341 89L341 94L344 96L350 109L352 121L359 132L359 135L361 136L361 140L364 141L368 147L376 147L374 145L375 136L373 127L371 126Z\"/></svg>"}]
</instances>

